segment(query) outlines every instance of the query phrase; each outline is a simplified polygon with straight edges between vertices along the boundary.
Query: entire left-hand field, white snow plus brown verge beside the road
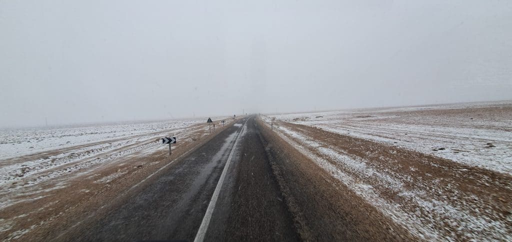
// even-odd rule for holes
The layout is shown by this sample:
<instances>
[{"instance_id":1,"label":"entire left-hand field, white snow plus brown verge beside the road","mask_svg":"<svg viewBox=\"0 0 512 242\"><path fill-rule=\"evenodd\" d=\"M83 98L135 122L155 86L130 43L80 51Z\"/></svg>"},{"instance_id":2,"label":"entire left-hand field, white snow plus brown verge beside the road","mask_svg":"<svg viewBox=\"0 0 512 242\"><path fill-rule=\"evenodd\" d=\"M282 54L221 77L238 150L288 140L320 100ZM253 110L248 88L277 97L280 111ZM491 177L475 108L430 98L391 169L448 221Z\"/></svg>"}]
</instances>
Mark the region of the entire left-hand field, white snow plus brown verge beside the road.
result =
<instances>
[{"instance_id":1,"label":"entire left-hand field, white snow plus brown verge beside the road","mask_svg":"<svg viewBox=\"0 0 512 242\"><path fill-rule=\"evenodd\" d=\"M18 239L80 201L136 184L168 162L163 136L177 137L179 155L209 133L206 118L0 130L0 236Z\"/></svg>"}]
</instances>

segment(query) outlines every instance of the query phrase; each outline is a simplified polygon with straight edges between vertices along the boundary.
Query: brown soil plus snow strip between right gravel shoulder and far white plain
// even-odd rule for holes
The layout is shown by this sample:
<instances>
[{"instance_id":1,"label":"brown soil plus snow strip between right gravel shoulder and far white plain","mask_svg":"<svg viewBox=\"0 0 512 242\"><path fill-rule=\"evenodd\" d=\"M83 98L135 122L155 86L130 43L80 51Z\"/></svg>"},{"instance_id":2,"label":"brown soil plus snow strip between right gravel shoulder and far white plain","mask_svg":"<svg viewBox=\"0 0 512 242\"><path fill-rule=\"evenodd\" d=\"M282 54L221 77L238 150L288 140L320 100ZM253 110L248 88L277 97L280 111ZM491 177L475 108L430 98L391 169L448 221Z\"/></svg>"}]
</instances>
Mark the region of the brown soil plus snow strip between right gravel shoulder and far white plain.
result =
<instances>
[{"instance_id":1,"label":"brown soil plus snow strip between right gravel shoulder and far white plain","mask_svg":"<svg viewBox=\"0 0 512 242\"><path fill-rule=\"evenodd\" d=\"M283 134L302 143L304 149L327 160L358 183L371 185L380 198L422 221L405 226L408 229L417 227L421 228L419 231L438 233L419 233L424 238L503 239L512 233L509 199L512 177L507 174L317 127L274 121L274 129L276 126L316 141L317 146L312 147ZM353 163L339 162L323 153L325 149L337 151ZM361 171L354 167L365 168ZM382 178L397 181L399 185L389 185ZM402 226L404 224L407 222L402 222ZM418 235L418 231L413 234Z\"/></svg>"}]
</instances>

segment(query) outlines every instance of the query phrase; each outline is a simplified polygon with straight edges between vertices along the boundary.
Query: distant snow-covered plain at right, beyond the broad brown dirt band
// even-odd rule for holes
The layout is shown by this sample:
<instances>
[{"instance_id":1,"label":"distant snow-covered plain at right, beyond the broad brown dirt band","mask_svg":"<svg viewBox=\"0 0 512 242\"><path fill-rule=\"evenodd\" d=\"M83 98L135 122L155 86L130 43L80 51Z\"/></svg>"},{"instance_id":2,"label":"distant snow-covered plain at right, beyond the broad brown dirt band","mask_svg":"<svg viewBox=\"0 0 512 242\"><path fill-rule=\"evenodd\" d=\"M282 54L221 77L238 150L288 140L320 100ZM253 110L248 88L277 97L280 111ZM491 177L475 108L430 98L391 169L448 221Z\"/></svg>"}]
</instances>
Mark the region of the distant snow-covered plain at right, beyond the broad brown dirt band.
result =
<instances>
[{"instance_id":1,"label":"distant snow-covered plain at right, beyond the broad brown dirt band","mask_svg":"<svg viewBox=\"0 0 512 242\"><path fill-rule=\"evenodd\" d=\"M269 116L512 174L512 101Z\"/></svg>"}]
</instances>

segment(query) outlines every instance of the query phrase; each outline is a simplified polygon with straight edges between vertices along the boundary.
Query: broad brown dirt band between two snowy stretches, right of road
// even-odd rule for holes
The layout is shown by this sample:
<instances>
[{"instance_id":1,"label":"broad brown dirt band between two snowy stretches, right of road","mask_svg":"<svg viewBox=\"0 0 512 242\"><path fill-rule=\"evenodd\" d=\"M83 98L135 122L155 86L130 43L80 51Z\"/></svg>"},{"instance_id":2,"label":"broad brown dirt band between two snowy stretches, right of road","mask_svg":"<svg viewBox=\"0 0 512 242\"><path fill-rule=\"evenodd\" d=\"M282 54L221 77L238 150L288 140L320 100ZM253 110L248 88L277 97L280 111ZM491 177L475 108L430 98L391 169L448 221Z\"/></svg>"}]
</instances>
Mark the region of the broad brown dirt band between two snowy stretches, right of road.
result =
<instances>
[{"instance_id":1,"label":"broad brown dirt band between two snowy stretches, right of road","mask_svg":"<svg viewBox=\"0 0 512 242\"><path fill-rule=\"evenodd\" d=\"M404 188L422 191L426 197L467 208L476 217L485 215L493 221L500 221L508 225L509 228L512 227L507 219L512 212L512 204L509 199L512 197L510 187L512 177L506 174L370 140L340 135L320 128L281 121L274 121L275 126L286 127L322 143L322 147L342 151L355 159L362 159L366 165L375 170L400 180L404 184ZM317 150L313 148L309 150L317 156L329 160ZM381 196L385 199L400 204L409 212L414 213L419 209L424 216L432 215L426 214L428 211L421 211L411 201L397 196L396 191L383 186L378 179L354 173L336 161L330 162L359 181L371 184L380 191ZM455 234L459 238L464 238L465 232L468 231L459 230L458 224L449 223L449 219L449 217L438 217L437 229L446 235ZM500 238L499 235L490 236L496 236L494 237L496 239Z\"/></svg>"}]
</instances>

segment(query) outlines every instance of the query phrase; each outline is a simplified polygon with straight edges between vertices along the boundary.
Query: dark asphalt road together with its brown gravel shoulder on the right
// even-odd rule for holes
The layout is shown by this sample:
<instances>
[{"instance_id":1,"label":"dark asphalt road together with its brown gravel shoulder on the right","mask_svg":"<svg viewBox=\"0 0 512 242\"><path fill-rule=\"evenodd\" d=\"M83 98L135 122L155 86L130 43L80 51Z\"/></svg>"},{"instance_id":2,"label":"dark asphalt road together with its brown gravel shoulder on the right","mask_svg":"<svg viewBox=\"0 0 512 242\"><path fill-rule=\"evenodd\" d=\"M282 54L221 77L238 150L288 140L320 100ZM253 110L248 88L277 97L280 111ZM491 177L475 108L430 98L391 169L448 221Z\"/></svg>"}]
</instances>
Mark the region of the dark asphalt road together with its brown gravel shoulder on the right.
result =
<instances>
[{"instance_id":1,"label":"dark asphalt road together with its brown gravel shoulder on the right","mask_svg":"<svg viewBox=\"0 0 512 242\"><path fill-rule=\"evenodd\" d=\"M53 240L411 239L270 132L237 120Z\"/></svg>"}]
</instances>

